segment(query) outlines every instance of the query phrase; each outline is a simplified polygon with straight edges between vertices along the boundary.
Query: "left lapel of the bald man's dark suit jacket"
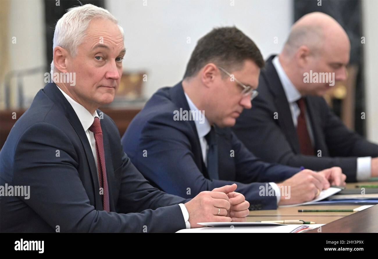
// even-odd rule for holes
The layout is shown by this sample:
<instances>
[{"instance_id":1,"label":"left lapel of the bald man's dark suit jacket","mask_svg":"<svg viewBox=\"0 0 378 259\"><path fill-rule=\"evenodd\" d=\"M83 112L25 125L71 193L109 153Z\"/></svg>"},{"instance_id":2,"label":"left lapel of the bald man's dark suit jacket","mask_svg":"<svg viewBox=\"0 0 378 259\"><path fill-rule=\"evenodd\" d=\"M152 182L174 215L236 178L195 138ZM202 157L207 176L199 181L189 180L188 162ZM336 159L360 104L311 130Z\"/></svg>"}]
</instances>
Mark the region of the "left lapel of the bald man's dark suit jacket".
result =
<instances>
[{"instance_id":1,"label":"left lapel of the bald man's dark suit jacket","mask_svg":"<svg viewBox=\"0 0 378 259\"><path fill-rule=\"evenodd\" d=\"M266 80L268 81L268 88L274 96L274 103L278 112L278 122L280 126L284 129L283 133L286 135L287 139L293 150L296 153L301 153L299 148L299 140L297 136L297 130L294 127L293 119L291 116L290 106L286 98L285 91L283 90L282 83L278 77L277 71L273 66L272 60L274 56L271 56L266 61L265 74Z\"/></svg>"}]
</instances>

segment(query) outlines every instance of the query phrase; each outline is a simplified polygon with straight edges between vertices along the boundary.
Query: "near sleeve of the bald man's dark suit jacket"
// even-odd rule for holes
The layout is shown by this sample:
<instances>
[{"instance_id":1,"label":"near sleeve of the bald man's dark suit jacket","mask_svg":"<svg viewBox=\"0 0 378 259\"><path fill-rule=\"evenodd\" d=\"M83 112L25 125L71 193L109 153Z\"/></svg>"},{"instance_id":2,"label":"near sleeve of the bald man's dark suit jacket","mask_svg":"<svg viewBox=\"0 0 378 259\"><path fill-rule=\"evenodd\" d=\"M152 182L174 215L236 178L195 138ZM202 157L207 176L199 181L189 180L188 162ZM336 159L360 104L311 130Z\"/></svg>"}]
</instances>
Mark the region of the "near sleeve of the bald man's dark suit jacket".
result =
<instances>
[{"instance_id":1,"label":"near sleeve of the bald man's dark suit jacket","mask_svg":"<svg viewBox=\"0 0 378 259\"><path fill-rule=\"evenodd\" d=\"M316 171L338 166L347 175L348 182L356 181L356 157L317 157L294 153L274 119L274 111L259 97L254 100L251 110L243 111L233 130L250 151L265 161ZM330 131L330 128L327 129L328 134ZM338 133L335 131L335 134Z\"/></svg>"}]
</instances>

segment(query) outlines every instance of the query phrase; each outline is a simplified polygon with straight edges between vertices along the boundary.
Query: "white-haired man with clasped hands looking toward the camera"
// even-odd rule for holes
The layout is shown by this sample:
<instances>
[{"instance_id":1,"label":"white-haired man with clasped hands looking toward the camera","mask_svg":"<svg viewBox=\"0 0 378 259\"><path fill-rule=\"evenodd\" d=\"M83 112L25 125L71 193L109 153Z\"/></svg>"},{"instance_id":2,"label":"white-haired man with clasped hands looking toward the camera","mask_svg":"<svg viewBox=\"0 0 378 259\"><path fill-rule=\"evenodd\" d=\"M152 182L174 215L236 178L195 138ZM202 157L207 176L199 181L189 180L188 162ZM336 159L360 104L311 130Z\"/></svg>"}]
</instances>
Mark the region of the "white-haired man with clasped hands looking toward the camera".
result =
<instances>
[{"instance_id":1,"label":"white-haired man with clasped hands looking toward the camera","mask_svg":"<svg viewBox=\"0 0 378 259\"><path fill-rule=\"evenodd\" d=\"M54 77L0 152L1 185L30 187L28 199L1 197L2 232L173 232L245 221L249 203L236 185L183 199L152 187L130 162L98 109L113 101L124 55L122 28L105 9L71 8L57 22L51 70L76 82Z\"/></svg>"}]
</instances>

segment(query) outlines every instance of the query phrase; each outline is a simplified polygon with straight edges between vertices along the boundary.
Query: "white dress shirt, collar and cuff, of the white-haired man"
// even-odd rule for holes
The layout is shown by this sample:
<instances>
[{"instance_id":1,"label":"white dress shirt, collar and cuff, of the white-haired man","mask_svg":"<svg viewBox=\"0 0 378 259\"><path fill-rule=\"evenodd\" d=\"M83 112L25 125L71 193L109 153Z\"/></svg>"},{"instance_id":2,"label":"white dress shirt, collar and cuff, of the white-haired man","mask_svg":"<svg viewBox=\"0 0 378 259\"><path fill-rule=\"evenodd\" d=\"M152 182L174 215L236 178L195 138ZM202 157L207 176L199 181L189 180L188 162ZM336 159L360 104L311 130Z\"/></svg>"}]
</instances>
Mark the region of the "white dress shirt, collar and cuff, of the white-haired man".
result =
<instances>
[{"instance_id":1,"label":"white dress shirt, collar and cuff, of the white-haired man","mask_svg":"<svg viewBox=\"0 0 378 259\"><path fill-rule=\"evenodd\" d=\"M95 158L97 176L98 176L96 140L95 140L95 135L93 134L93 132L89 130L90 126L95 121L95 117L99 118L97 111L91 114L87 109L84 108L84 106L82 106L80 103L77 103L70 96L68 96L68 94L64 93L62 89L60 89L58 86L57 88L62 92L64 97L66 97L67 101L71 104L73 110L75 111L77 117L79 118L81 122L81 125L84 128L85 134L87 135L87 138L88 138L89 145L91 146L91 149L92 149L93 157ZM180 203L179 205L181 208L181 212L183 213L185 226L186 228L190 228L189 213L184 204Z\"/></svg>"}]
</instances>

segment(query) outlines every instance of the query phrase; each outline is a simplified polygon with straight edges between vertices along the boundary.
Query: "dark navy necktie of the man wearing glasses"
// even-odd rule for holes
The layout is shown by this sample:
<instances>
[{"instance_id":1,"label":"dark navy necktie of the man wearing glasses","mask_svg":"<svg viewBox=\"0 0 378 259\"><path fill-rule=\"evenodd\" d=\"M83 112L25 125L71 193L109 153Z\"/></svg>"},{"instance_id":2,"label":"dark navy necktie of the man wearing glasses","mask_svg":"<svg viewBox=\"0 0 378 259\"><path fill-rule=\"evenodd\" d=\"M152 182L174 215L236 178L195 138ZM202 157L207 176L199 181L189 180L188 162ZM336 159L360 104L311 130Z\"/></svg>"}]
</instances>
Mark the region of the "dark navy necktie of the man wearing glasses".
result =
<instances>
[{"instance_id":1,"label":"dark navy necktie of the man wearing glasses","mask_svg":"<svg viewBox=\"0 0 378 259\"><path fill-rule=\"evenodd\" d=\"M205 139L209 145L209 150L206 159L208 163L208 174L210 179L218 180L218 145L214 126L211 126L211 130L205 136Z\"/></svg>"}]
</instances>

